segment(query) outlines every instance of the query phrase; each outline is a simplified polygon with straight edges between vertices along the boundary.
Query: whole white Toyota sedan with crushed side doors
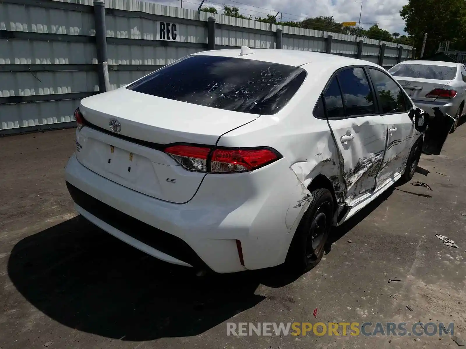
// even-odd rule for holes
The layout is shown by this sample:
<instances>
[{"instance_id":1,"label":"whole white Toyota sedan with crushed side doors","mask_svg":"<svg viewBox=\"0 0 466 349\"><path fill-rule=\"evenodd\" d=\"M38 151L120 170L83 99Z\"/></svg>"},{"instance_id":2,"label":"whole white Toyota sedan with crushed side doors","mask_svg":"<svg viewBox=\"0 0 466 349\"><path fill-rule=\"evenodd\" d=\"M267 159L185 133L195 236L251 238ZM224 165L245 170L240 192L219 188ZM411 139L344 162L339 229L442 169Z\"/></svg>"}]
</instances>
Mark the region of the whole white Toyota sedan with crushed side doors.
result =
<instances>
[{"instance_id":1,"label":"whole white Toyota sedan with crushed side doors","mask_svg":"<svg viewBox=\"0 0 466 349\"><path fill-rule=\"evenodd\" d=\"M453 123L374 63L248 47L188 55L83 99L75 118L75 209L149 255L218 273L312 268L330 227L410 179Z\"/></svg>"}]
</instances>

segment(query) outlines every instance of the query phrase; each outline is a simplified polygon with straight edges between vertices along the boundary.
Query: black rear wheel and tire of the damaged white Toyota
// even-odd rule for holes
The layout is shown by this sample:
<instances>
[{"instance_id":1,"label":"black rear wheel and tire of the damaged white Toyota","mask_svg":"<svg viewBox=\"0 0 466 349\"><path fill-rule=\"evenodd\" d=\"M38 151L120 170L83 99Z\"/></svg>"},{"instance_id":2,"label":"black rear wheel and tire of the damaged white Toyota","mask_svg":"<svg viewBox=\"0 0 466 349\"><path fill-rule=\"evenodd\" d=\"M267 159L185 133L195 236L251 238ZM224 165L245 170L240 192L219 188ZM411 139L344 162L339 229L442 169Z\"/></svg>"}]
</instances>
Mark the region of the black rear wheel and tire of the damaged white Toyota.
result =
<instances>
[{"instance_id":1,"label":"black rear wheel and tire of the damaged white Toyota","mask_svg":"<svg viewBox=\"0 0 466 349\"><path fill-rule=\"evenodd\" d=\"M333 196L328 189L315 189L311 194L312 201L302 216L287 255L288 267L300 274L321 261L334 213Z\"/></svg>"}]
</instances>

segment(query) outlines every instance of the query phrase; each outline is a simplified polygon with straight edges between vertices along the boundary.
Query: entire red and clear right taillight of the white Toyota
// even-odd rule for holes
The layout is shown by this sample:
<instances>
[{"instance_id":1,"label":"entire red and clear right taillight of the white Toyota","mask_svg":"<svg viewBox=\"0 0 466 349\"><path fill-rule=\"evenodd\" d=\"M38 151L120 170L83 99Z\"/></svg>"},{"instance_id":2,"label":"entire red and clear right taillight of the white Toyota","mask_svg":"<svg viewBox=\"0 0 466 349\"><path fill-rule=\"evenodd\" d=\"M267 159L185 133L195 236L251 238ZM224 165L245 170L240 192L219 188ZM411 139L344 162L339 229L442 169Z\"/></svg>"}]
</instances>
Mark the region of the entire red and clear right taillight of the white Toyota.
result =
<instances>
[{"instance_id":1,"label":"entire red and clear right taillight of the white Toyota","mask_svg":"<svg viewBox=\"0 0 466 349\"><path fill-rule=\"evenodd\" d=\"M210 173L252 171L281 158L281 155L271 148L211 149L176 145L165 148L165 153L187 170Z\"/></svg>"}]
</instances>

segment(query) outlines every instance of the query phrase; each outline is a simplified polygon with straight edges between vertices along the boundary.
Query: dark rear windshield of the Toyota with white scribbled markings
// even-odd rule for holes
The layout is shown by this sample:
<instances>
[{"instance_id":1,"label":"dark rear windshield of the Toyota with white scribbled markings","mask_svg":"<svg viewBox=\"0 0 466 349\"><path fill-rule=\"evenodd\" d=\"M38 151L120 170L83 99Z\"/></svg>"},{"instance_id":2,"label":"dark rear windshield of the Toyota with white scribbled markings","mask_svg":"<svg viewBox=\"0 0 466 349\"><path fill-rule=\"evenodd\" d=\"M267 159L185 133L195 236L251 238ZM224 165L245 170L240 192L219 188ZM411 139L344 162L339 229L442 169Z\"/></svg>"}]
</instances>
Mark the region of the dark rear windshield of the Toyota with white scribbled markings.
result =
<instances>
[{"instance_id":1,"label":"dark rear windshield of the Toyota with white scribbled markings","mask_svg":"<svg viewBox=\"0 0 466 349\"><path fill-rule=\"evenodd\" d=\"M126 88L206 107L275 114L306 77L304 69L232 57L194 55L163 67Z\"/></svg>"}]
</instances>

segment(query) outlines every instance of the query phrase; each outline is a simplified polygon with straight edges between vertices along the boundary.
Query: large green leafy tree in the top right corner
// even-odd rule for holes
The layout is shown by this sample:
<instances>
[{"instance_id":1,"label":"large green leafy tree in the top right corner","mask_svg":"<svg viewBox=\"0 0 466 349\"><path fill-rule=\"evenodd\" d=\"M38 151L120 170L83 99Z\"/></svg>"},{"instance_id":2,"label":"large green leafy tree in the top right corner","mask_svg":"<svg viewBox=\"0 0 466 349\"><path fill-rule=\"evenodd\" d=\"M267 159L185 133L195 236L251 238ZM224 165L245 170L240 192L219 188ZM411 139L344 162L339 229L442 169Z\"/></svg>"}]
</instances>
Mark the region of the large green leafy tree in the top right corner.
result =
<instances>
[{"instance_id":1,"label":"large green leafy tree in the top right corner","mask_svg":"<svg viewBox=\"0 0 466 349\"><path fill-rule=\"evenodd\" d=\"M450 48L466 50L466 0L409 0L400 15L418 52L425 33L425 55L435 53L446 40L450 40Z\"/></svg>"}]
</instances>

